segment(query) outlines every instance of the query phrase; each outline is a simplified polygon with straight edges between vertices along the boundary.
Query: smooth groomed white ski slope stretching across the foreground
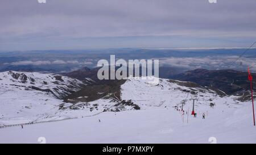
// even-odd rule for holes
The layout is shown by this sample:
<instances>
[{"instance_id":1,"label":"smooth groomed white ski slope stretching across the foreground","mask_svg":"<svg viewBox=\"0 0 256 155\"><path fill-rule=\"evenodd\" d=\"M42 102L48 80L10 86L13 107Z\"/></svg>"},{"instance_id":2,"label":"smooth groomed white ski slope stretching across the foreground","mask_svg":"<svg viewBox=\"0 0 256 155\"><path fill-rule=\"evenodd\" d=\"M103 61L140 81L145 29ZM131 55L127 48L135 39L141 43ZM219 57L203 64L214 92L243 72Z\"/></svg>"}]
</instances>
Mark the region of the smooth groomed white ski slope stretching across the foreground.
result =
<instances>
[{"instance_id":1,"label":"smooth groomed white ski slope stretching across the foreground","mask_svg":"<svg viewBox=\"0 0 256 155\"><path fill-rule=\"evenodd\" d=\"M0 143L256 143L251 107L212 109L205 120L176 110L104 112L87 118L0 129ZM101 122L98 122L98 119Z\"/></svg>"}]
</instances>

